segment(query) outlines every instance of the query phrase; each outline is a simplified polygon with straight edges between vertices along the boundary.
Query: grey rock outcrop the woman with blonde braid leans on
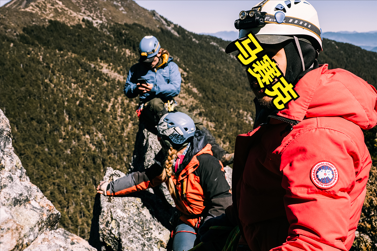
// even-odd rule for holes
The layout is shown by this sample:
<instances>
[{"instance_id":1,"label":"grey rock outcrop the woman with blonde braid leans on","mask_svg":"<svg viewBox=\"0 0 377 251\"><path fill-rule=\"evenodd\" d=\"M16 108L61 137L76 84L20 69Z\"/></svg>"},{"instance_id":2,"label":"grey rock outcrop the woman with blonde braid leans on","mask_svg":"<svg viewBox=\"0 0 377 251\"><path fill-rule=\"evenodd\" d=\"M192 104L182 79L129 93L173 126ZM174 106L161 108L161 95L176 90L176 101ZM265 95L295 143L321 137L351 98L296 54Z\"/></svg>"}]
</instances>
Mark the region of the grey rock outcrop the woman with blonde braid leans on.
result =
<instances>
[{"instance_id":1,"label":"grey rock outcrop the woman with blonde braid leans on","mask_svg":"<svg viewBox=\"0 0 377 251\"><path fill-rule=\"evenodd\" d=\"M157 137L141 125L136 135L132 171L141 171L153 164L160 148ZM224 169L231 185L232 169L228 166ZM103 180L113 181L124 175L107 167ZM172 230L169 223L172 205L174 202L165 184L124 197L97 194L89 243L98 250L166 250Z\"/></svg>"}]
</instances>

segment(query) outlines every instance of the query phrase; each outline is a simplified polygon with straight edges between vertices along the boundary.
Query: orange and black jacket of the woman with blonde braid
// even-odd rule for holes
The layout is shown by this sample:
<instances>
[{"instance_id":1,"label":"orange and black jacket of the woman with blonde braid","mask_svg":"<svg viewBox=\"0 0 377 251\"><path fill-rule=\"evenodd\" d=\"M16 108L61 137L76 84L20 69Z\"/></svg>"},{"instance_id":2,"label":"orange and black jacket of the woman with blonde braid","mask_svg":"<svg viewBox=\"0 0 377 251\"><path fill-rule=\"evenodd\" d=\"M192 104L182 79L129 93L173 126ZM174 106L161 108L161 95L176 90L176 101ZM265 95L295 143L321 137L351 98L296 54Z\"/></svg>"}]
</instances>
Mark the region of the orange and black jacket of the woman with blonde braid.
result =
<instances>
[{"instance_id":1,"label":"orange and black jacket of the woman with blonde braid","mask_svg":"<svg viewBox=\"0 0 377 251\"><path fill-rule=\"evenodd\" d=\"M144 172L133 172L107 186L107 195L126 195L149 187L157 186L166 180L159 179L164 163L162 157ZM182 212L180 219L192 227L208 218L219 216L231 205L230 187L225 179L224 167L212 156L211 145L205 134L199 130L190 144L182 164L172 176L177 198L176 208Z\"/></svg>"}]
</instances>

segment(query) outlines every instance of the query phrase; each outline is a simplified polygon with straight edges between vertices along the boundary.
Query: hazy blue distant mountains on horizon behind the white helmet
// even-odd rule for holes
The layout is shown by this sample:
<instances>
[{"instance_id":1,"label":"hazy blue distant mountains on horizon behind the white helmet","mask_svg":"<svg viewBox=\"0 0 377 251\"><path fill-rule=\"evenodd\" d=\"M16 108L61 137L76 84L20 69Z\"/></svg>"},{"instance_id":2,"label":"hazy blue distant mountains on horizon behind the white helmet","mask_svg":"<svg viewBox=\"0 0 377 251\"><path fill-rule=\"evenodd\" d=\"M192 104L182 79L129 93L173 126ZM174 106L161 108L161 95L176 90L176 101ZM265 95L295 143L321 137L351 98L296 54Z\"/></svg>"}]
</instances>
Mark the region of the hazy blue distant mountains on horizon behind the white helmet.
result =
<instances>
[{"instance_id":1,"label":"hazy blue distant mountains on horizon behind the white helmet","mask_svg":"<svg viewBox=\"0 0 377 251\"><path fill-rule=\"evenodd\" d=\"M233 41L238 38L238 32L236 31L219 31L216 33L202 34L222 38L223 40L227 41ZM325 32L323 33L323 38L328 38L337 42L353 44L361 47L362 49L377 52L377 30L371 32Z\"/></svg>"}]
</instances>

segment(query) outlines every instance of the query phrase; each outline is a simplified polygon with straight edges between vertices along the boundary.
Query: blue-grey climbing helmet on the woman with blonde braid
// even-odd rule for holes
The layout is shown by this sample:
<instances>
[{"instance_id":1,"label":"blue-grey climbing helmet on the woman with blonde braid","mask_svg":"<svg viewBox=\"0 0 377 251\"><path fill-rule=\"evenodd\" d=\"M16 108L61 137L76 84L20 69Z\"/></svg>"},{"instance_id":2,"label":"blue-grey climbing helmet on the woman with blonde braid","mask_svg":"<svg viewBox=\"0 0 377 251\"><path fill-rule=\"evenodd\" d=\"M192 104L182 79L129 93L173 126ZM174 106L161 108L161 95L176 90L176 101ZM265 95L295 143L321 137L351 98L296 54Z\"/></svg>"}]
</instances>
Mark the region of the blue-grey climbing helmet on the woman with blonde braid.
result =
<instances>
[{"instance_id":1,"label":"blue-grey climbing helmet on the woman with blonde braid","mask_svg":"<svg viewBox=\"0 0 377 251\"><path fill-rule=\"evenodd\" d=\"M157 136L161 137L166 145L177 149L187 145L188 139L194 136L195 124L189 115L178 111L162 116L157 130Z\"/></svg>"}]
</instances>

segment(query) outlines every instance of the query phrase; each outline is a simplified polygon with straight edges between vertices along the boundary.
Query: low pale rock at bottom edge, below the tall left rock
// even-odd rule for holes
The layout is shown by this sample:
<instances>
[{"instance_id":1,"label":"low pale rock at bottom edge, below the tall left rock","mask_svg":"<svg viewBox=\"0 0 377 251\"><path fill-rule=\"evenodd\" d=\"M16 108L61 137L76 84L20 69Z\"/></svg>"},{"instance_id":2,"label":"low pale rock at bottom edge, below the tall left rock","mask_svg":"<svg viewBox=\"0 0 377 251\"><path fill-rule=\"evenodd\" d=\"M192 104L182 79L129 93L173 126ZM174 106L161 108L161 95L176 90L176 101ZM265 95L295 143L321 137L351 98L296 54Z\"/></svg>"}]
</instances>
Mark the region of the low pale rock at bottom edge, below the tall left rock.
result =
<instances>
[{"instance_id":1,"label":"low pale rock at bottom edge, below the tall left rock","mask_svg":"<svg viewBox=\"0 0 377 251\"><path fill-rule=\"evenodd\" d=\"M24 251L97 251L89 243L75 234L69 233L63 228L46 231L38 235Z\"/></svg>"}]
</instances>

